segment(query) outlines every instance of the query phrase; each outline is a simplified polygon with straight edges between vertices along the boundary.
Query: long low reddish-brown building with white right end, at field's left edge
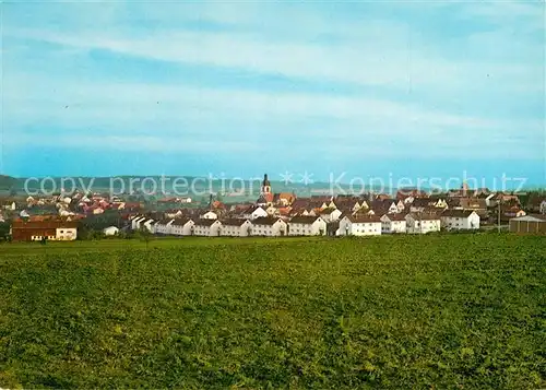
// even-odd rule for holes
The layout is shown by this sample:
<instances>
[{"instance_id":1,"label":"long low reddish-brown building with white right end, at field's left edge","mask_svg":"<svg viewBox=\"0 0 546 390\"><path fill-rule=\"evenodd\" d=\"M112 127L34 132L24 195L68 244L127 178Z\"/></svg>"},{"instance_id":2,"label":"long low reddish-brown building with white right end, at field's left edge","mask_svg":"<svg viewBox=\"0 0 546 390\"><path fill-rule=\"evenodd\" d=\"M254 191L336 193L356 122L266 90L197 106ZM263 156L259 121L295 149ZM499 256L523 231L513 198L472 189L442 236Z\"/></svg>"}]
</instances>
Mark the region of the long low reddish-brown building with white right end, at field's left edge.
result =
<instances>
[{"instance_id":1,"label":"long low reddish-brown building with white right end, at field's left edge","mask_svg":"<svg viewBox=\"0 0 546 390\"><path fill-rule=\"evenodd\" d=\"M14 220L11 232L15 241L74 240L78 238L78 222L61 220Z\"/></svg>"}]
</instances>

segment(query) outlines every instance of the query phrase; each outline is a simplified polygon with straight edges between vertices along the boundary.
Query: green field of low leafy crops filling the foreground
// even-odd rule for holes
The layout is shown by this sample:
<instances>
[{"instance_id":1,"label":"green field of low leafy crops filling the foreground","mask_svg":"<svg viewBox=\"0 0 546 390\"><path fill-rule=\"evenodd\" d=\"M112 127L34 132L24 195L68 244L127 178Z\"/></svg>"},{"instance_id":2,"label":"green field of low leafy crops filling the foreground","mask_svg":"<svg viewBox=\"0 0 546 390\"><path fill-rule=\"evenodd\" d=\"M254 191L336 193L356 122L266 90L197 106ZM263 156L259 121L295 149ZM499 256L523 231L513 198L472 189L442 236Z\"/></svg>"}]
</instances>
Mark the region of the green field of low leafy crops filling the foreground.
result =
<instances>
[{"instance_id":1,"label":"green field of low leafy crops filling the foreground","mask_svg":"<svg viewBox=\"0 0 546 390\"><path fill-rule=\"evenodd\" d=\"M1 388L546 387L546 238L0 246Z\"/></svg>"}]
</instances>

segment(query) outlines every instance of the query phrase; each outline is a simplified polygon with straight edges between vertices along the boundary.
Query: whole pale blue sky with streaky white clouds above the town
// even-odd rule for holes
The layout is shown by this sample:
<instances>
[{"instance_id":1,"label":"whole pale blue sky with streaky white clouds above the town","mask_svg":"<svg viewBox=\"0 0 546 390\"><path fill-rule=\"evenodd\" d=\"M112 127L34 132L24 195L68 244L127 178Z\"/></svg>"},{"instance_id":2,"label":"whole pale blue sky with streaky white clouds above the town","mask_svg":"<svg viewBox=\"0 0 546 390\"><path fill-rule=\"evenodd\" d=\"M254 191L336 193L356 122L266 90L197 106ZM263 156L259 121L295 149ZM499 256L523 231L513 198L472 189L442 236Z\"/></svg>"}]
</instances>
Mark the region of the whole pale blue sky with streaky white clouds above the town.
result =
<instances>
[{"instance_id":1,"label":"whole pale blue sky with streaky white clouds above the town","mask_svg":"<svg viewBox=\"0 0 546 390\"><path fill-rule=\"evenodd\" d=\"M12 2L0 173L546 184L544 2Z\"/></svg>"}]
</instances>

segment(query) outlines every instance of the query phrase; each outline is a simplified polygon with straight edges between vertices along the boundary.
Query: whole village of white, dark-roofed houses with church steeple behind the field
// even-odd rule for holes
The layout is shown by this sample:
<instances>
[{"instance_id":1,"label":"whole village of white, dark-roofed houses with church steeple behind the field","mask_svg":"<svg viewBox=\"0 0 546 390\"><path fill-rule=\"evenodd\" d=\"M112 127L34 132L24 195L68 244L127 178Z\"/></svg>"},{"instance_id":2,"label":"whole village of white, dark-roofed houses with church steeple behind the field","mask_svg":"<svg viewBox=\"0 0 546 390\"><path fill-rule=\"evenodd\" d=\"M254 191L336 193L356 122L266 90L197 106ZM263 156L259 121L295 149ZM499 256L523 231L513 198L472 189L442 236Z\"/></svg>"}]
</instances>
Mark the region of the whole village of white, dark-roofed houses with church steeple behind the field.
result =
<instances>
[{"instance_id":1,"label":"whole village of white, dark-roofed houses with church steeple behind the field","mask_svg":"<svg viewBox=\"0 0 546 390\"><path fill-rule=\"evenodd\" d=\"M74 240L88 237L156 236L378 236L500 229L546 234L546 197L462 188L431 194L400 189L393 196L311 196L273 192L268 175L254 202L207 204L191 198L151 204L107 193L2 200L0 223L14 241ZM83 233L85 232L85 234Z\"/></svg>"}]
</instances>

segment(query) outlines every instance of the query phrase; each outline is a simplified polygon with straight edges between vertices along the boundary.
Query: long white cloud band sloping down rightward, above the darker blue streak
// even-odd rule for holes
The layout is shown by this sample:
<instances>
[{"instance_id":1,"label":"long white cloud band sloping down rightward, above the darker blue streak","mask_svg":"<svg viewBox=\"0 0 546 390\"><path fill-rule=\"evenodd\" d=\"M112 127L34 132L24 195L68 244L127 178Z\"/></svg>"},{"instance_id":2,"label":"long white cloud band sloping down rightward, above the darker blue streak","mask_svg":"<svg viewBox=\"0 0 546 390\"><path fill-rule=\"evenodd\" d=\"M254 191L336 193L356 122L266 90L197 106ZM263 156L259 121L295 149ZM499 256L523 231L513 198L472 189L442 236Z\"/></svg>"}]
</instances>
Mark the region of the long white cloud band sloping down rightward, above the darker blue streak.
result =
<instances>
[{"instance_id":1,"label":"long white cloud band sloping down rightward, above the darker blue streak","mask_svg":"<svg viewBox=\"0 0 546 390\"><path fill-rule=\"evenodd\" d=\"M106 49L175 63L245 69L257 73L387 86L399 91L407 91L413 86L442 94L454 91L464 93L468 87L499 88L502 85L523 84L535 88L533 76L541 71L536 64L499 64L473 60L453 62L427 52L406 39L379 40L375 33L358 42L341 45L262 40L249 34L189 31L162 31L145 36L100 32L67 35L47 31L19 31L13 34L84 50ZM492 68L497 76L503 80L502 85L490 83L485 78Z\"/></svg>"}]
</instances>

